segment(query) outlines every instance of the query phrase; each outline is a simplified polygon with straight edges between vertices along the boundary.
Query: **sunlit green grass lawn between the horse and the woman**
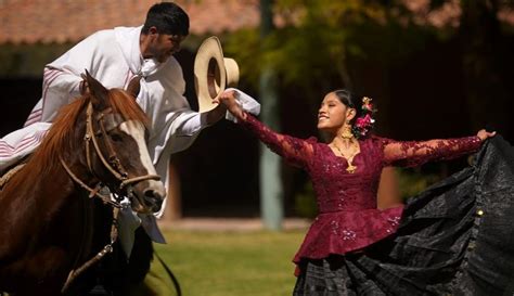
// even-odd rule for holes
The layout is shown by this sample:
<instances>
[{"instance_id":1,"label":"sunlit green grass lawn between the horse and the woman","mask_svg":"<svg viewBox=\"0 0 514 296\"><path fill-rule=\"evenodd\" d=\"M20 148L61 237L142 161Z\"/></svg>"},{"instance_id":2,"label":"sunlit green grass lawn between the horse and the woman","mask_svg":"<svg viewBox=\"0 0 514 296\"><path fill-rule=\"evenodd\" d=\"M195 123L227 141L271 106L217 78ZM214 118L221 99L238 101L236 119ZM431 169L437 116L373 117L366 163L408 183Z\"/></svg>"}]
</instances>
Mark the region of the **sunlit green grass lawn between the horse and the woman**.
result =
<instances>
[{"instance_id":1,"label":"sunlit green grass lawn between the horse and the woman","mask_svg":"<svg viewBox=\"0 0 514 296\"><path fill-rule=\"evenodd\" d=\"M291 295L291 261L305 231L165 232L158 255L177 276L183 296ZM163 267L154 260L147 282L159 295L176 295Z\"/></svg>"}]
</instances>

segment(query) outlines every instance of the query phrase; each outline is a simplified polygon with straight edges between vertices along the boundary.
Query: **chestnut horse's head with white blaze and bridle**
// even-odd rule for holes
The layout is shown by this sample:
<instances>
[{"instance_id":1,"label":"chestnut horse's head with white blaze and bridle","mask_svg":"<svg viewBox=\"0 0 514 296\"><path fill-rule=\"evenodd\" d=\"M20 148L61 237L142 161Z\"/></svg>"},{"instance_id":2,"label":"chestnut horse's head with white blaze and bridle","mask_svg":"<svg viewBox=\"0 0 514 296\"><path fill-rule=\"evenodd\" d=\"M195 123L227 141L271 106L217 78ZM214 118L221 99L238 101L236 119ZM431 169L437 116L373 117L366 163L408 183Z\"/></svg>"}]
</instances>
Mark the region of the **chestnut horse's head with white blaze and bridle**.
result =
<instances>
[{"instance_id":1,"label":"chestnut horse's head with white blaze and bridle","mask_svg":"<svg viewBox=\"0 0 514 296\"><path fill-rule=\"evenodd\" d=\"M107 90L89 73L87 163L111 191L130 198L132 209L160 209L166 190L155 172L146 147L146 117L136 102L139 79L127 91Z\"/></svg>"}]
</instances>

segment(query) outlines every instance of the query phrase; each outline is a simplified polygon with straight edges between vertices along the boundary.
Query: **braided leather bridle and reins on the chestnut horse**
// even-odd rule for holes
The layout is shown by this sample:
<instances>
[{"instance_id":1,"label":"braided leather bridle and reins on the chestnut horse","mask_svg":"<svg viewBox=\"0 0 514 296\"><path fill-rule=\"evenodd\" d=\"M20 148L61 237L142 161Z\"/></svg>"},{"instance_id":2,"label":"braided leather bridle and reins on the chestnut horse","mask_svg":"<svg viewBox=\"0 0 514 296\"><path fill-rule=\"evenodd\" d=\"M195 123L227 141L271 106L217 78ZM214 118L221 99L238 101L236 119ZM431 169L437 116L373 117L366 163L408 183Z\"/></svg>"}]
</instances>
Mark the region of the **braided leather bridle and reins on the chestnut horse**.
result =
<instances>
[{"instance_id":1,"label":"braided leather bridle and reins on the chestnut horse","mask_svg":"<svg viewBox=\"0 0 514 296\"><path fill-rule=\"evenodd\" d=\"M116 155L116 152L113 147L112 142L110 141L110 138L107 137L107 131L104 126L104 116L105 113L101 113L97 120L100 126L100 131L94 132L93 129L93 124L92 124L92 118L93 118L93 106L91 102L88 105L88 108L86 111L87 119L86 119L86 134L83 137L85 143L86 143L86 159L88 164L89 171L92 175L95 175L92 168L92 162L91 162L91 142L93 144L94 151L97 152L98 157L102 162L103 166L119 181L119 186L115 192L123 191L126 189L127 192L127 197L133 197L133 191L132 191L132 185L134 183L138 183L140 181L144 180L160 180L160 177L157 175L144 175L144 176L138 176L133 178L128 178L128 172L119 162L119 158ZM104 154L100 150L100 145L98 143L98 138L97 134L101 134L102 138L104 139L105 146L107 149L108 157L107 159L105 158ZM69 177L77 183L79 184L82 189L89 192L89 197L99 197L102 200L104 204L108 204L113 207L113 222L111 224L111 242L105 245L102 250L100 250L93 258L89 259L85 263L82 263L79 268L72 269L72 271L68 274L68 278L66 279L66 282L64 283L63 288L61 292L64 294L72 282L79 275L81 274L86 269L94 265L95 262L100 261L106 254L113 252L113 244L116 242L118 237L118 231L117 231L117 217L119 214L119 209L123 208L120 205L118 198L116 201L113 201L111 198L111 195L105 195L101 193L101 190L104 188L101 181L97 183L94 189L90 188L83 181L80 180L69 168L68 165L63 160L62 157L60 157L61 164L66 170L66 172L69 175ZM87 223L86 223L87 224ZM80 252L79 252L80 253ZM77 255L77 258L80 257L80 254Z\"/></svg>"}]
</instances>

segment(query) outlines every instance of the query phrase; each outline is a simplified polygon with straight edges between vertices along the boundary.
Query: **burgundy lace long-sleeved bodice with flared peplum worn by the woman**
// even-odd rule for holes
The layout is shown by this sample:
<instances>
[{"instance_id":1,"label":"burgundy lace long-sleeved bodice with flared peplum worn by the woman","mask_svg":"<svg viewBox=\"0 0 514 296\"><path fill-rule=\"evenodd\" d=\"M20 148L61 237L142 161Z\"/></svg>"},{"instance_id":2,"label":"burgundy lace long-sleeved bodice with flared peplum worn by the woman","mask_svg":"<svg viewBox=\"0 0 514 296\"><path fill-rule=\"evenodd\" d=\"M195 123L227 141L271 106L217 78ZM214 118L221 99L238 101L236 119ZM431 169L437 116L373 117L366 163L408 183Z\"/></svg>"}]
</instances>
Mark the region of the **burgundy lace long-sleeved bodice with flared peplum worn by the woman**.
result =
<instances>
[{"instance_id":1,"label":"burgundy lace long-sleeved bodice with flared peplum worn by the woman","mask_svg":"<svg viewBox=\"0 0 514 296\"><path fill-rule=\"evenodd\" d=\"M240 123L290 164L307 170L316 192L319 215L311 224L294 261L320 259L363 248L395 232L403 207L376 208L376 194L385 166L420 166L449 159L480 146L478 137L422 142L399 142L371 137L359 141L354 173L348 163L314 138L301 140L279 134L247 114Z\"/></svg>"}]
</instances>

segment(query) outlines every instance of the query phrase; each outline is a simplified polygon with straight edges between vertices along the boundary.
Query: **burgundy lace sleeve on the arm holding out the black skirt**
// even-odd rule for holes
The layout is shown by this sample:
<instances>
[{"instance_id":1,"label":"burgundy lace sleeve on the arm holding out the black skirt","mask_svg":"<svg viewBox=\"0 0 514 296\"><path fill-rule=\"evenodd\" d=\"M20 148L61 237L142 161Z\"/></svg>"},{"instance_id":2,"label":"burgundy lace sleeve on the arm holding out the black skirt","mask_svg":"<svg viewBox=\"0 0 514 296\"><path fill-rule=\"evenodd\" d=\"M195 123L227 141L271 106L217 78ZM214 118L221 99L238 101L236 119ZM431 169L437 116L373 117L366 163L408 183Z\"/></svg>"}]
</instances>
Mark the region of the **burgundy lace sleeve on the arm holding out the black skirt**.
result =
<instances>
[{"instance_id":1,"label":"burgundy lace sleeve on the arm holding out the black skirt","mask_svg":"<svg viewBox=\"0 0 514 296\"><path fill-rule=\"evenodd\" d=\"M477 151L481 140L474 137L400 142L381 138L384 166L421 166L432 160L452 159Z\"/></svg>"}]
</instances>

